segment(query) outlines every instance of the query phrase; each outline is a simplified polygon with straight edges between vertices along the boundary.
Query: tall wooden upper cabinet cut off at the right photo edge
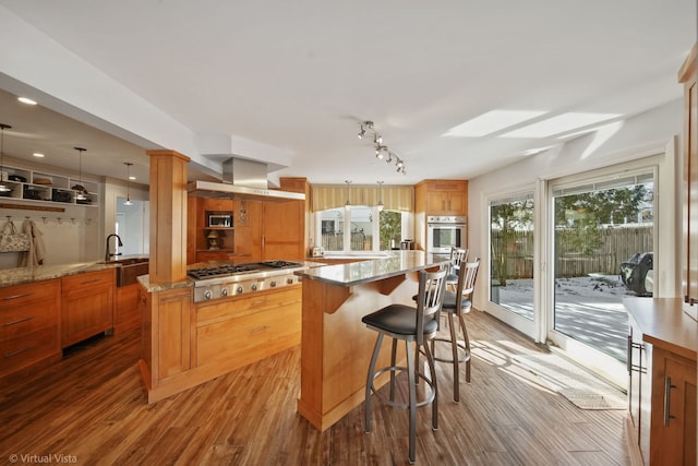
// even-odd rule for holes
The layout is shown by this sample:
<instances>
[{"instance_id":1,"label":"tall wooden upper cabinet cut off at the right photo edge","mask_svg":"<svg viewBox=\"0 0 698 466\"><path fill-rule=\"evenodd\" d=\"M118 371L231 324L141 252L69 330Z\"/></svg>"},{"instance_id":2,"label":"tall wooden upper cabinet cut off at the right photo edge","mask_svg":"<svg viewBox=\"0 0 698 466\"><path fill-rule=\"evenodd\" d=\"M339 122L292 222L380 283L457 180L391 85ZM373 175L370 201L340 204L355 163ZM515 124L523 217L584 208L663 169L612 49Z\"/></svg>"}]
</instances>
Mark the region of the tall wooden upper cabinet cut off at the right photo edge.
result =
<instances>
[{"instance_id":1,"label":"tall wooden upper cabinet cut off at the right photo edge","mask_svg":"<svg viewBox=\"0 0 698 466\"><path fill-rule=\"evenodd\" d=\"M696 105L696 45L678 72L684 83L684 235L682 291L684 300L698 307L698 121ZM694 312L695 313L695 312Z\"/></svg>"}]
</instances>

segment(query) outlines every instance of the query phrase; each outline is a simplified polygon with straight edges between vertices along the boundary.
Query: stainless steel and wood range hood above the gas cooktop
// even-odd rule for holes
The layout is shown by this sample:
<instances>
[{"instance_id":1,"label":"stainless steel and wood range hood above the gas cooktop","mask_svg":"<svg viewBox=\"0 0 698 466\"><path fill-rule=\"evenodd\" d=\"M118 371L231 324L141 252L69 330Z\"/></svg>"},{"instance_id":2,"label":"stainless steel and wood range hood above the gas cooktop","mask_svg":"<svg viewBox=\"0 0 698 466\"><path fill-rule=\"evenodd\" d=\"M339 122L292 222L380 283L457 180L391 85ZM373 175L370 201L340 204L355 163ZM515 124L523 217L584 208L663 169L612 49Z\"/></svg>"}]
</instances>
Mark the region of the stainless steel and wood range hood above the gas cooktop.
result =
<instances>
[{"instance_id":1,"label":"stainless steel and wood range hood above the gas cooktop","mask_svg":"<svg viewBox=\"0 0 698 466\"><path fill-rule=\"evenodd\" d=\"M188 191L195 198L266 202L305 200L305 194L300 192L268 189L266 177L266 164L233 157L222 163L222 182L192 181Z\"/></svg>"}]
</instances>

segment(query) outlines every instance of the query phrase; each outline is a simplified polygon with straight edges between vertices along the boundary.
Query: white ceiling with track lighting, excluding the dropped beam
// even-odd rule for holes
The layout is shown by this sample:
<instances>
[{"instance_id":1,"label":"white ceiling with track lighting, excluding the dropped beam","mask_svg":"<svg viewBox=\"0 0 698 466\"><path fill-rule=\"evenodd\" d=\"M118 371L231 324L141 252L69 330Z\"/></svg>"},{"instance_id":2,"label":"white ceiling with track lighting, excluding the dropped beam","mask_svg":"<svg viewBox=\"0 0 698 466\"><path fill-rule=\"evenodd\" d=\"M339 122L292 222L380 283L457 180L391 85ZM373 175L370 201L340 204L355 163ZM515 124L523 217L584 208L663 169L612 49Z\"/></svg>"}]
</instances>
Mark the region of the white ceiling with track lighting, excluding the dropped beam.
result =
<instances>
[{"instance_id":1,"label":"white ceiling with track lighting, excluding the dropped beam","mask_svg":"<svg viewBox=\"0 0 698 466\"><path fill-rule=\"evenodd\" d=\"M194 133L274 147L290 160L275 175L313 183L474 178L563 142L562 134L501 138L512 129L569 111L624 119L679 98L676 73L696 41L694 0L0 5ZM12 99L0 94L0 122L17 128L5 133L5 154L29 156L25 134L48 144L45 151L63 147L65 166L76 166L72 147L83 145L85 171L124 178L122 164L132 162L146 179L142 150L106 133L87 135L84 124L58 123L60 113L49 110L53 119L26 118L26 109L21 117ZM445 135L495 109L543 113L481 138ZM357 138L362 120L375 122L407 175Z\"/></svg>"}]
</instances>

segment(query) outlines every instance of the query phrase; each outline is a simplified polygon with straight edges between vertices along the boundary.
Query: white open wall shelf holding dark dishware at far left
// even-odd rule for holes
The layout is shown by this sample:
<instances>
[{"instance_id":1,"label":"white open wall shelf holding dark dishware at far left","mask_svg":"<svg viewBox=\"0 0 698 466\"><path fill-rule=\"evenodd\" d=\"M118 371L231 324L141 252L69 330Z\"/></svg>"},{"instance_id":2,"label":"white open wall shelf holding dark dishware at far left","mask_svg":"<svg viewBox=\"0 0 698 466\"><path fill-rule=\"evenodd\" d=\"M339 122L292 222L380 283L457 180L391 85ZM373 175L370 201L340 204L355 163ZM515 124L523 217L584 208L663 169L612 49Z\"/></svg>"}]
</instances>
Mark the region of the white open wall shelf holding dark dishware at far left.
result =
<instances>
[{"instance_id":1,"label":"white open wall shelf holding dark dishware at far left","mask_svg":"<svg viewBox=\"0 0 698 466\"><path fill-rule=\"evenodd\" d=\"M37 170L2 167L2 179L10 188L0 193L2 200L22 200L37 203L56 202L96 206L99 204L99 184ZM79 191L83 187L87 193Z\"/></svg>"}]
</instances>

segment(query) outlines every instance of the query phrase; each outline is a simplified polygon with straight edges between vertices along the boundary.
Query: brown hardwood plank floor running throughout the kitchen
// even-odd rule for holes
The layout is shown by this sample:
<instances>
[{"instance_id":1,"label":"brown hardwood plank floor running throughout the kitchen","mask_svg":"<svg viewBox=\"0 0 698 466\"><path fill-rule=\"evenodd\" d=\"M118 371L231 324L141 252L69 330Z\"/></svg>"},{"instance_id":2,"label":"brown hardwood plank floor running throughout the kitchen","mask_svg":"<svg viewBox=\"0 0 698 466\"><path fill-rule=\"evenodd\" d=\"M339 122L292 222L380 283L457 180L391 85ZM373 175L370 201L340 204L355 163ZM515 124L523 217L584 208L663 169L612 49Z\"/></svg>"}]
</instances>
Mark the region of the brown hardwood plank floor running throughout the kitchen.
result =
<instances>
[{"instance_id":1,"label":"brown hardwood plank floor running throughout the kitchen","mask_svg":"<svg viewBox=\"0 0 698 466\"><path fill-rule=\"evenodd\" d=\"M541 349L479 311L468 322L472 383L454 404L440 365L440 430L421 408L418 464L630 464L624 410L581 410L518 375L510 356ZM296 414L300 347L147 405L137 330L83 346L0 386L0 464L60 454L79 465L407 464L407 411L374 403L370 434L363 404L325 432Z\"/></svg>"}]
</instances>

